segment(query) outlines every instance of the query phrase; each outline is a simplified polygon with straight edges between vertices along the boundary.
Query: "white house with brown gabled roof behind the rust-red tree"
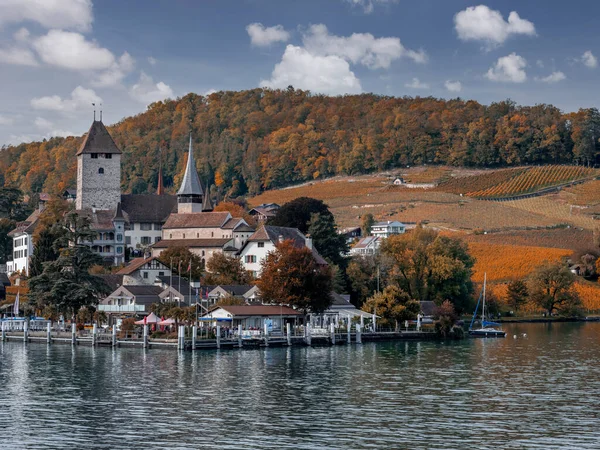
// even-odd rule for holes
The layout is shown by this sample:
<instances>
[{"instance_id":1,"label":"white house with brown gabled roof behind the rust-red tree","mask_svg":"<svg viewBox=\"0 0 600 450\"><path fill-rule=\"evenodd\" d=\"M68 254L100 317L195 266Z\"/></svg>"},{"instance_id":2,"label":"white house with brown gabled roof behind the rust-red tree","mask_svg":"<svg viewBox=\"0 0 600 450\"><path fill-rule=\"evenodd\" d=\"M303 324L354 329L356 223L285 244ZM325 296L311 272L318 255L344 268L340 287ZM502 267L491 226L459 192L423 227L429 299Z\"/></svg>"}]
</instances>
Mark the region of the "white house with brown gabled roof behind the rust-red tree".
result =
<instances>
[{"instance_id":1,"label":"white house with brown gabled roof behind the rust-red tree","mask_svg":"<svg viewBox=\"0 0 600 450\"><path fill-rule=\"evenodd\" d=\"M240 257L244 268L249 271L255 278L260 276L261 264L267 257L267 254L275 250L275 245L278 242L291 240L296 247L306 247L312 250L317 264L327 265L327 261L312 245L312 239L304 236L297 228L274 227L263 225L248 238L246 244L240 250Z\"/></svg>"}]
</instances>

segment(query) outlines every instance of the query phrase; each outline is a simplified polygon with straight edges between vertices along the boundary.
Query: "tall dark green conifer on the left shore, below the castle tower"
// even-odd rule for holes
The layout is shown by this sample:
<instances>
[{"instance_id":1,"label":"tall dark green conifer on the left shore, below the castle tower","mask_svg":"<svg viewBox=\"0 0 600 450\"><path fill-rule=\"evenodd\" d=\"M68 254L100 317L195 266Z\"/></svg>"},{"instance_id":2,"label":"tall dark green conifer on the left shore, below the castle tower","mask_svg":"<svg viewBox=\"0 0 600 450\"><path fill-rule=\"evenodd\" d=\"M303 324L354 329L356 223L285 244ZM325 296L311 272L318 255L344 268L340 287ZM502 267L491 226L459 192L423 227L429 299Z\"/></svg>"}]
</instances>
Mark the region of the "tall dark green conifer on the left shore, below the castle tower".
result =
<instances>
[{"instance_id":1,"label":"tall dark green conifer on the left shore, below the castle tower","mask_svg":"<svg viewBox=\"0 0 600 450\"><path fill-rule=\"evenodd\" d=\"M58 259L46 263L43 272L29 280L29 293L38 307L51 305L74 317L81 308L96 305L110 289L89 273L92 266L102 263L102 257L89 247L96 236L89 219L70 213L63 227L63 235L55 242Z\"/></svg>"}]
</instances>

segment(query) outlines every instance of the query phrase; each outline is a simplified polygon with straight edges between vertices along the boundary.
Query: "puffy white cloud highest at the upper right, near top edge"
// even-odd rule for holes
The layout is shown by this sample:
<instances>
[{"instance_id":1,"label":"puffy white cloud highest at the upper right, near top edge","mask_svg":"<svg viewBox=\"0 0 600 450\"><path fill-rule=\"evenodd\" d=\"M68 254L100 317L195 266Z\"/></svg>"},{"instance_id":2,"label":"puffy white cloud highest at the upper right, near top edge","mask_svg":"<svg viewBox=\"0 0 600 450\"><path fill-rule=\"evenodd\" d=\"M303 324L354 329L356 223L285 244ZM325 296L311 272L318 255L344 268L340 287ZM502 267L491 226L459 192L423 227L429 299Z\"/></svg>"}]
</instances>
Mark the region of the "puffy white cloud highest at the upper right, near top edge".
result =
<instances>
[{"instance_id":1,"label":"puffy white cloud highest at the upper right, near top edge","mask_svg":"<svg viewBox=\"0 0 600 450\"><path fill-rule=\"evenodd\" d=\"M503 44L511 35L525 34L535 36L535 26L519 14L512 11L508 22L500 11L485 5L469 6L454 16L454 28L463 41L484 41L488 46Z\"/></svg>"}]
</instances>

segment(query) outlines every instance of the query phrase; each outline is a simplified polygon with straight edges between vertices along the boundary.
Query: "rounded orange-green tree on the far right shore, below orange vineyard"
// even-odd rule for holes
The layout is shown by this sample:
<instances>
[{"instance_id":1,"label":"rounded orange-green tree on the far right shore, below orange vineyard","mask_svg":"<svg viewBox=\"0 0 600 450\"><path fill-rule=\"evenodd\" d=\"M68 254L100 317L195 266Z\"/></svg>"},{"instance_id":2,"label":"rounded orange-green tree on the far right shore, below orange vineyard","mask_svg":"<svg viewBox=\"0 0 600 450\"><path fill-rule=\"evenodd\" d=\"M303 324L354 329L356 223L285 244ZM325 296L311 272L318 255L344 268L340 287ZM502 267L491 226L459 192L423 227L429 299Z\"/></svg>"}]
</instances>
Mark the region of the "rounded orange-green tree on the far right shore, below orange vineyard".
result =
<instances>
[{"instance_id":1,"label":"rounded orange-green tree on the far right shore, below orange vineyard","mask_svg":"<svg viewBox=\"0 0 600 450\"><path fill-rule=\"evenodd\" d=\"M575 275L562 262L546 263L529 278L529 299L552 315L555 311L570 314L580 306L574 289Z\"/></svg>"}]
</instances>

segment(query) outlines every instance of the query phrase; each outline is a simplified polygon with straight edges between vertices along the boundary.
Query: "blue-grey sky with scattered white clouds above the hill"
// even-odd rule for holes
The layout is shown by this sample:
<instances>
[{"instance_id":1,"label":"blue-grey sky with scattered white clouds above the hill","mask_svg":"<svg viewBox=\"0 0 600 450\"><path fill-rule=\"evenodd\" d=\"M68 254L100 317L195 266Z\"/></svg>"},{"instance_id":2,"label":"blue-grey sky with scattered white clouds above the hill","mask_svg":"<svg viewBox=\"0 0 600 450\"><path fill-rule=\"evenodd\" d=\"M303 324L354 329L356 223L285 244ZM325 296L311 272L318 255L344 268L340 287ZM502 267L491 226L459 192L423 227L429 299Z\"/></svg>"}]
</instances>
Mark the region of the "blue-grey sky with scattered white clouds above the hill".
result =
<instances>
[{"instance_id":1,"label":"blue-grey sky with scattered white clouds above the hill","mask_svg":"<svg viewBox=\"0 0 600 450\"><path fill-rule=\"evenodd\" d=\"M598 17L597 0L0 0L0 146L256 87L600 107Z\"/></svg>"}]
</instances>

